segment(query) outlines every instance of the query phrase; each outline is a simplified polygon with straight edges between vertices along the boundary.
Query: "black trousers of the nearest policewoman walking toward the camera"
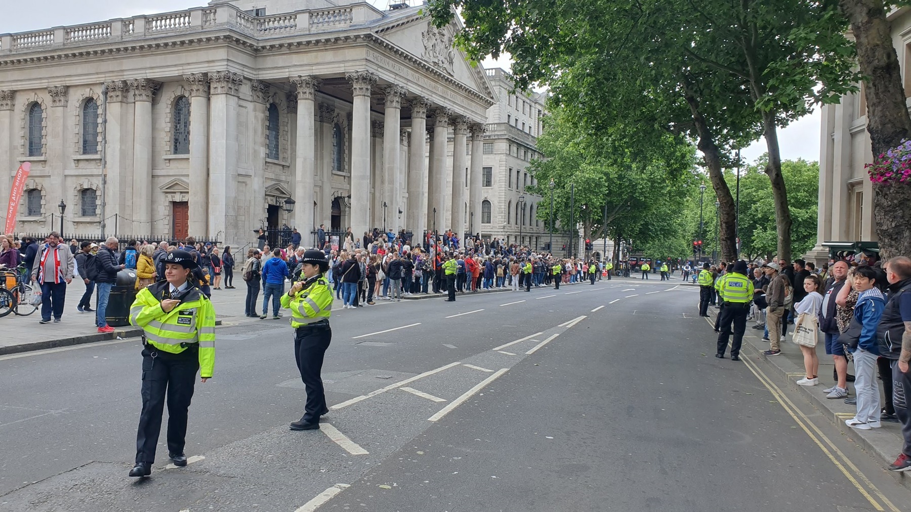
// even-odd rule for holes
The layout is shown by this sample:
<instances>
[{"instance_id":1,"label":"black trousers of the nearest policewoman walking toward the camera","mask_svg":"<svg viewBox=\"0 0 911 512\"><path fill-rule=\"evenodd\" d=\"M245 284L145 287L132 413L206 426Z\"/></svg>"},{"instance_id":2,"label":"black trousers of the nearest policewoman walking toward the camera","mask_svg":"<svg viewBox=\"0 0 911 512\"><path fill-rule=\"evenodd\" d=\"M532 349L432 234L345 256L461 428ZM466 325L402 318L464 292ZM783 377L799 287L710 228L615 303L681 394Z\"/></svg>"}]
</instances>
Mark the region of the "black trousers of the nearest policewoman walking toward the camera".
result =
<instances>
[{"instance_id":1,"label":"black trousers of the nearest policewoman walking toward the camera","mask_svg":"<svg viewBox=\"0 0 911 512\"><path fill-rule=\"evenodd\" d=\"M183 453L187 437L187 410L193 398L196 373L200 371L200 351L191 346L179 354L142 349L142 413L136 435L136 462L155 463L159 444L161 414L168 402L168 451Z\"/></svg>"}]
</instances>

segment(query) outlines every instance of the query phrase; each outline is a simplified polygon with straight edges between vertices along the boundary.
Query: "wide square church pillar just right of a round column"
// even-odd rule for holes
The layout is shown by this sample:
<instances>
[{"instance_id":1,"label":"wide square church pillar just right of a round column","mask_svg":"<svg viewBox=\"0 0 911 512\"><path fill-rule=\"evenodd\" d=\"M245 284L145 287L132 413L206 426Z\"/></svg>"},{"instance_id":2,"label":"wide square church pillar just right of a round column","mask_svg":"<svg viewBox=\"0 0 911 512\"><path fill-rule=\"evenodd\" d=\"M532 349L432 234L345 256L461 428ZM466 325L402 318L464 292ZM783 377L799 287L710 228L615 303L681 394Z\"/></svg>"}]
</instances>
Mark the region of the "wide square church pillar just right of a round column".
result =
<instances>
[{"instance_id":1,"label":"wide square church pillar just right of a round column","mask_svg":"<svg viewBox=\"0 0 911 512\"><path fill-rule=\"evenodd\" d=\"M243 75L233 71L210 73L209 127L209 237L223 245L240 246L237 208L237 105ZM192 112L192 107L190 112ZM190 127L192 133L192 127ZM192 202L192 201L191 201Z\"/></svg>"}]
</instances>

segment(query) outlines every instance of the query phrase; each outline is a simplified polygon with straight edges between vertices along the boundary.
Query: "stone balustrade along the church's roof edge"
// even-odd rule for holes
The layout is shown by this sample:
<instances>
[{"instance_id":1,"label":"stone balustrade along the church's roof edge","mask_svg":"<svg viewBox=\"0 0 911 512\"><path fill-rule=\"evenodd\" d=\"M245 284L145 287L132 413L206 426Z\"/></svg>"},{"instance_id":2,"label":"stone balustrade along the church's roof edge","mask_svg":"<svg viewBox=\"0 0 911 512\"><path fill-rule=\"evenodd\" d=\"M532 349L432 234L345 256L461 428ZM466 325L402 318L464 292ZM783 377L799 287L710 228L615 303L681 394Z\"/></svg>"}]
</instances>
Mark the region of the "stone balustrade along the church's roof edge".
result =
<instances>
[{"instance_id":1,"label":"stone balustrade along the church's roof edge","mask_svg":"<svg viewBox=\"0 0 911 512\"><path fill-rule=\"evenodd\" d=\"M138 15L87 25L60 26L17 34L0 34L0 55L39 52L59 47L98 45L165 35L233 29L257 39L305 35L363 25L384 14L373 5L354 4L269 16L252 16L234 5L194 7L159 15Z\"/></svg>"}]
</instances>

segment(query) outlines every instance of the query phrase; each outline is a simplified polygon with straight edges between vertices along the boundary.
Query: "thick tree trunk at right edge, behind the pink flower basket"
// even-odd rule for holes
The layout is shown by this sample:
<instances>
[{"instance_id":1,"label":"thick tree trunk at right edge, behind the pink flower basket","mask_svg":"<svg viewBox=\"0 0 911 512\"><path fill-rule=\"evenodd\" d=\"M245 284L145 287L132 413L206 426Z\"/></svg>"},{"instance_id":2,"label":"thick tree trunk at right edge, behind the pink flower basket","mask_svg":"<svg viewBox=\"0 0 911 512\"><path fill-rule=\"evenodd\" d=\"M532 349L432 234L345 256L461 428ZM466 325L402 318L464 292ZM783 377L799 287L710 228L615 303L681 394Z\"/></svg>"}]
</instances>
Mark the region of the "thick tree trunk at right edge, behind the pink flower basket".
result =
<instances>
[{"instance_id":1,"label":"thick tree trunk at right edge, behind the pink flower basket","mask_svg":"<svg viewBox=\"0 0 911 512\"><path fill-rule=\"evenodd\" d=\"M865 81L866 131L873 155L898 146L911 135L898 55L883 0L840 0L851 22L857 62ZM873 184L873 217L880 256L911 256L911 185Z\"/></svg>"}]
</instances>

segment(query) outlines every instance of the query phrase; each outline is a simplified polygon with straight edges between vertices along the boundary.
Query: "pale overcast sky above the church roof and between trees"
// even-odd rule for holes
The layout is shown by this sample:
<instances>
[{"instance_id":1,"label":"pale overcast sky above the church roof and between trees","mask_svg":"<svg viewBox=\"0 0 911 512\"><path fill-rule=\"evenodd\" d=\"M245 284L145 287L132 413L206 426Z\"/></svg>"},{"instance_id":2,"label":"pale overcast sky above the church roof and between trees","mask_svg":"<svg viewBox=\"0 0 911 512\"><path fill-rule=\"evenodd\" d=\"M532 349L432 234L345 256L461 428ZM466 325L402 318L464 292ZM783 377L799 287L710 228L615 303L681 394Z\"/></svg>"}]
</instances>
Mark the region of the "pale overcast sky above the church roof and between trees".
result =
<instances>
[{"instance_id":1,"label":"pale overcast sky above the church roof and between trees","mask_svg":"<svg viewBox=\"0 0 911 512\"><path fill-rule=\"evenodd\" d=\"M9 32L26 32L50 28L58 25L79 25L83 23L104 21L111 18L122 18L133 15L166 13L189 7L206 5L206 0L30 0L28 2L5 2L4 16L0 20L0 34ZM389 4L388 0L370 0L370 3L381 9ZM411 0L417 5L416 0ZM487 67L498 65L507 67L508 61L488 60ZM820 114L817 109L792 125L780 130L779 144L783 159L804 158L819 160ZM765 143L759 140L742 151L742 156L752 162L765 152Z\"/></svg>"}]
</instances>

